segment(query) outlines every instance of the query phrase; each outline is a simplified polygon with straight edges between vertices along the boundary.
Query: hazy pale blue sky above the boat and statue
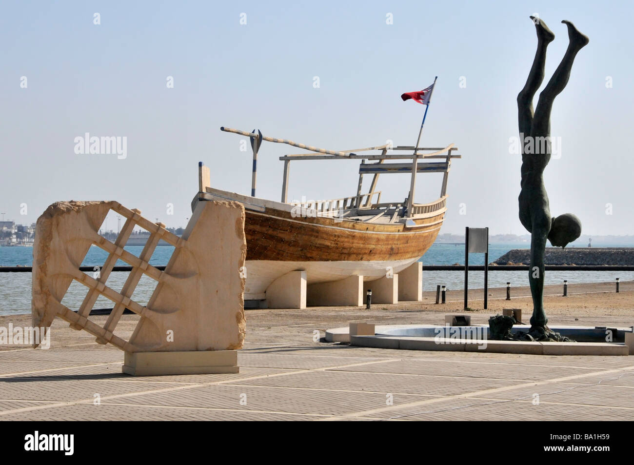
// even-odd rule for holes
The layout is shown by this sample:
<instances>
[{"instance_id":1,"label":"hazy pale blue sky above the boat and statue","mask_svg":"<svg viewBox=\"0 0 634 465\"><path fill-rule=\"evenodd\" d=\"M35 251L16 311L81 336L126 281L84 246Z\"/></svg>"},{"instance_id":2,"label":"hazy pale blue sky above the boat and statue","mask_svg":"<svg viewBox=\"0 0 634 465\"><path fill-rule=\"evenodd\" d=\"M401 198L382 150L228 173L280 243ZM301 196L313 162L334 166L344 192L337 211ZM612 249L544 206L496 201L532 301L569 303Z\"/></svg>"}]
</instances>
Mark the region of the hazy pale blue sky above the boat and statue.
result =
<instances>
[{"instance_id":1,"label":"hazy pale blue sky above the boat and statue","mask_svg":"<svg viewBox=\"0 0 634 465\"><path fill-rule=\"evenodd\" d=\"M422 145L453 142L463 155L450 172L441 233L525 233L521 157L509 153L509 138L536 13L556 35L544 85L568 43L560 21L590 37L553 107L561 156L545 172L551 213L577 214L583 233L632 234L633 10L579 0L4 1L0 212L27 224L58 200L118 200L184 225L199 160L214 187L250 192L250 147L241 152L244 138L220 126L335 150L413 145L425 107L400 95L437 75ZM126 158L76 154L85 133L125 136ZM264 143L258 197L280 199L278 157L297 152ZM358 161L295 162L290 175L290 200L346 197L356 193ZM419 175L415 200L437 199L440 183L441 175ZM408 188L407 174L378 185L384 201L403 200Z\"/></svg>"}]
</instances>

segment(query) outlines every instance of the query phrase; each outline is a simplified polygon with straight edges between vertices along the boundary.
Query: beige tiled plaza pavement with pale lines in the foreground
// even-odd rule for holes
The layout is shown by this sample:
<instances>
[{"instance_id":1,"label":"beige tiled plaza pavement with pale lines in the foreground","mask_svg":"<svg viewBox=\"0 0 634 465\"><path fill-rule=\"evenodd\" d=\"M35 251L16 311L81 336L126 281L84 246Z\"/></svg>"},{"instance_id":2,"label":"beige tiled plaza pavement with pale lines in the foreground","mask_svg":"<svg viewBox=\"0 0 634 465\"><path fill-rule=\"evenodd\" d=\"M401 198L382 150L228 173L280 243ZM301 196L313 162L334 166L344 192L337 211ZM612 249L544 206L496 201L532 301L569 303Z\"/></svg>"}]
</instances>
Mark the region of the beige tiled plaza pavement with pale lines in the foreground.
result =
<instances>
[{"instance_id":1,"label":"beige tiled plaza pavement with pale lines in the foreground","mask_svg":"<svg viewBox=\"0 0 634 465\"><path fill-rule=\"evenodd\" d=\"M439 318L402 313L389 308L364 318L395 324ZM476 322L486 317L474 315ZM21 318L27 324L26 317L13 323ZM626 420L634 414L634 358L313 341L314 329L358 318L358 309L249 311L239 374L157 377L122 374L122 352L55 322L49 350L0 350L0 420ZM132 331L136 317L124 321Z\"/></svg>"}]
</instances>

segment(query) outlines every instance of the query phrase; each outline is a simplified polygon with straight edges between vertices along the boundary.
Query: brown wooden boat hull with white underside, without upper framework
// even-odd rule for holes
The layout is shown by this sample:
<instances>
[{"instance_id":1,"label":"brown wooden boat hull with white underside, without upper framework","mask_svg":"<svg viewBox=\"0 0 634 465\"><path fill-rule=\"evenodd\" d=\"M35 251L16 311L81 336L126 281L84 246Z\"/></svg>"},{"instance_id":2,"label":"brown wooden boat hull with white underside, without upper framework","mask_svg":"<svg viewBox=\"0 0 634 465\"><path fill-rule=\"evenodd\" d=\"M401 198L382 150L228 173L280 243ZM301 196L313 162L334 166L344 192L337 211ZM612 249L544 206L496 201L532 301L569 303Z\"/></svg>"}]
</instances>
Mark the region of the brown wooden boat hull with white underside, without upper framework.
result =
<instances>
[{"instance_id":1,"label":"brown wooden boat hull with white underside, without upper framework","mask_svg":"<svg viewBox=\"0 0 634 465\"><path fill-rule=\"evenodd\" d=\"M266 299L277 278L306 271L306 284L399 273L434 243L445 208L410 224L297 216L289 204L207 188L194 202L235 200L245 205L245 300Z\"/></svg>"}]
</instances>

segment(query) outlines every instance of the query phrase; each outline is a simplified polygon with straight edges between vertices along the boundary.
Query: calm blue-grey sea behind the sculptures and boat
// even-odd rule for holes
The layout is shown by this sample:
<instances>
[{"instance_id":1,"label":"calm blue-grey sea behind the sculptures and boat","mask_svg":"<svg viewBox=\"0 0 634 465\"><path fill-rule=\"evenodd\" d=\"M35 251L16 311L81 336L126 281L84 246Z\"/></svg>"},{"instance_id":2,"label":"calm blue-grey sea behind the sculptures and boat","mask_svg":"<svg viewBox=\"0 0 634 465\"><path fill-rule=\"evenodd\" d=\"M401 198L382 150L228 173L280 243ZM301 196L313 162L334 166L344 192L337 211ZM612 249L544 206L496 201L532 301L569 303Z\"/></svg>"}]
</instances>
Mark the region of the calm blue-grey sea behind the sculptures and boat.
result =
<instances>
[{"instance_id":1,"label":"calm blue-grey sea behind the sculptures and boat","mask_svg":"<svg viewBox=\"0 0 634 465\"><path fill-rule=\"evenodd\" d=\"M578 247L583 247L579 244ZM527 249L530 245L527 242L500 242L489 244L489 262L500 258L511 249ZM601 244L601 247L622 247L621 244ZM126 246L135 256L139 256L143 246ZM150 264L155 266L167 265L174 247L157 247L150 259ZM33 261L32 247L0 247L0 266L30 266ZM82 262L84 266L103 265L107 258L107 252L99 247L93 246L86 254ZM432 245L422 262L425 265L453 265L459 263L463 265L465 261L465 247L463 244ZM470 265L484 265L484 254L470 254ZM126 266L127 263L118 261L117 265ZM126 282L129 272L112 273L108 278L108 286L115 290L120 290ZM546 284L560 284L567 279L570 284L584 282L607 282L614 281L619 277L621 281L634 280L634 272L547 272ZM497 271L495 268L489 273L489 287L504 287L507 282L511 282L513 287L528 285L527 272L507 272ZM436 285L446 285L450 290L462 289L464 284L463 272L424 272L423 290L435 291ZM133 299L141 305L145 305L150 298L155 287L152 278L143 275L139 281ZM484 287L484 272L469 272L469 288L478 289ZM77 310L86 295L86 287L73 282L62 303L72 310ZM31 273L0 273L0 315L15 315L17 313L30 313L31 305ZM112 308L112 301L100 297L94 308Z\"/></svg>"}]
</instances>

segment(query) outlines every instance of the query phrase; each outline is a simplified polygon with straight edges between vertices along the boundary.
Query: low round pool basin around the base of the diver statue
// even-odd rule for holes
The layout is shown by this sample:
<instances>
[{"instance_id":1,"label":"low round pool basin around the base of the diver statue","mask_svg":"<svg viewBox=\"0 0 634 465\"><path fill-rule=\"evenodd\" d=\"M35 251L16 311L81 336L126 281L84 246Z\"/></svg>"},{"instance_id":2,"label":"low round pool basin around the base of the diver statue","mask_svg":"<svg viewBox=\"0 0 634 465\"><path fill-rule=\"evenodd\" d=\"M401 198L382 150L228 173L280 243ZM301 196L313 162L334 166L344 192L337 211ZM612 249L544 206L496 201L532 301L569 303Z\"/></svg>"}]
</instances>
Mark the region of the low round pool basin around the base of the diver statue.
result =
<instances>
[{"instance_id":1,"label":"low round pool basin around the base of the diver statue","mask_svg":"<svg viewBox=\"0 0 634 465\"><path fill-rule=\"evenodd\" d=\"M526 332L529 325L515 325ZM552 325L553 331L576 338L576 343L492 341L488 325L373 325L351 323L328 329L327 342L384 349L524 353L531 355L634 355L634 333L630 328ZM605 342L606 334L615 342Z\"/></svg>"}]
</instances>

